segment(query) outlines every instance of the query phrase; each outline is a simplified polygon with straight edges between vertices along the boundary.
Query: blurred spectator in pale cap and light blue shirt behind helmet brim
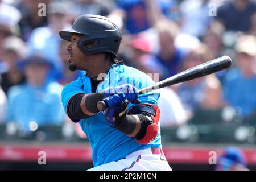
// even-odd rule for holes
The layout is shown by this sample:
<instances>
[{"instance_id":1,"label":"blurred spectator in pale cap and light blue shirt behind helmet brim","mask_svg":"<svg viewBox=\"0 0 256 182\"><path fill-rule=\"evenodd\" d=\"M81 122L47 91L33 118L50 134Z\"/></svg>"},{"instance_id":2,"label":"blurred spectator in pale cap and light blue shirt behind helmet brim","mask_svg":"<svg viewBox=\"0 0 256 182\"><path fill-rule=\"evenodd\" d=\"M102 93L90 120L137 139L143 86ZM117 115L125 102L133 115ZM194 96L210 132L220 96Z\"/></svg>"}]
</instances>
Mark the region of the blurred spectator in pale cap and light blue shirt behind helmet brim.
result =
<instances>
[{"instance_id":1,"label":"blurred spectator in pale cap and light blue shirt behind helmet brim","mask_svg":"<svg viewBox=\"0 0 256 182\"><path fill-rule=\"evenodd\" d=\"M53 69L49 78L56 78L63 71L59 57L61 39L59 31L69 28L69 6L66 3L52 2L47 6L48 26L35 28L28 42L28 55L39 53L51 61Z\"/></svg>"}]
</instances>

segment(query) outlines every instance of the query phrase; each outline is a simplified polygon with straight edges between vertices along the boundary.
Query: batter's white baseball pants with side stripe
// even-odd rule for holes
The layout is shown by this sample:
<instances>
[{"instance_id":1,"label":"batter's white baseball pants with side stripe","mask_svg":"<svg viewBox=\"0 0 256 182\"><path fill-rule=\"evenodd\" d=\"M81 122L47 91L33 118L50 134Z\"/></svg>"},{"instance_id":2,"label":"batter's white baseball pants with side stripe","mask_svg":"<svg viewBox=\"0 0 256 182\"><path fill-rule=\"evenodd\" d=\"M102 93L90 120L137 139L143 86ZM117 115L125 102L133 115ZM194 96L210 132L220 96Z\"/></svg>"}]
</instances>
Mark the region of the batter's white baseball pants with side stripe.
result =
<instances>
[{"instance_id":1,"label":"batter's white baseball pants with side stripe","mask_svg":"<svg viewBox=\"0 0 256 182\"><path fill-rule=\"evenodd\" d=\"M171 171L166 158L152 154L151 148L135 151L117 162L102 164L88 171Z\"/></svg>"}]
</instances>

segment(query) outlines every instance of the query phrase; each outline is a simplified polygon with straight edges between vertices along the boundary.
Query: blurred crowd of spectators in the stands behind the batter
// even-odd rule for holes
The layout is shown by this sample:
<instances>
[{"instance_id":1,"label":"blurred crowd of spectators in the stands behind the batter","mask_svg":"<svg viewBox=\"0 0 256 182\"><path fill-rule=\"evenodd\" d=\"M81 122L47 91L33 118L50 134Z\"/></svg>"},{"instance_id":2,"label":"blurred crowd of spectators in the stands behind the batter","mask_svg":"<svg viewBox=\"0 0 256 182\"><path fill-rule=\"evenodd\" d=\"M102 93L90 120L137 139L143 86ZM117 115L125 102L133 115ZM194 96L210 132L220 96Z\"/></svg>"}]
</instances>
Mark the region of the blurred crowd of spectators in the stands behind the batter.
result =
<instances>
[{"instance_id":1,"label":"blurred crowd of spectators in the stands behind the batter","mask_svg":"<svg viewBox=\"0 0 256 182\"><path fill-rule=\"evenodd\" d=\"M232 58L228 71L160 89L163 128L195 120L255 122L254 0L0 0L0 123L6 135L31 137L45 127L86 137L61 104L63 86L83 71L69 71L68 42L59 31L82 14L112 19L122 31L118 59L156 82L223 55Z\"/></svg>"}]
</instances>

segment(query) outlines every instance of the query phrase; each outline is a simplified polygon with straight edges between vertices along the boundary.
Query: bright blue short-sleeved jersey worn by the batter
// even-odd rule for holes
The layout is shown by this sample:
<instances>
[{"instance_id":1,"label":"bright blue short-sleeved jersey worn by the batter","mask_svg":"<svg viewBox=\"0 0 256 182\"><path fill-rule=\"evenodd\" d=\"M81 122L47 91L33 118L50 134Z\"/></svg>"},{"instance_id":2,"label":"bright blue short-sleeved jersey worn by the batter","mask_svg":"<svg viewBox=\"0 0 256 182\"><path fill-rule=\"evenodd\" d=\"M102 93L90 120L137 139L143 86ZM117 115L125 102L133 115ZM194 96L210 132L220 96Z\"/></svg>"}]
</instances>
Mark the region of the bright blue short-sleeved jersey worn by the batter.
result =
<instances>
[{"instance_id":1,"label":"bright blue short-sleeved jersey worn by the batter","mask_svg":"<svg viewBox=\"0 0 256 182\"><path fill-rule=\"evenodd\" d=\"M112 68L109 69L108 74L105 74L104 81L98 84L96 92L109 86L115 87L123 84L132 84L137 89L142 89L155 84L155 82L152 81L148 75L135 68L127 67L126 65L113 64ZM79 93L92 93L90 77L85 74L64 87L62 91L62 102L66 112L69 99ZM139 100L142 103L157 105L159 97L160 93L158 90L154 90L153 92L140 95ZM128 109L131 106L132 104L130 103L128 105ZM130 138L117 129L110 127L102 112L92 117L81 119L79 124L87 135L90 145L92 146L92 158L95 167L123 159L132 152L142 150L144 148L162 148L160 122L158 124L159 133L157 137L154 141L146 145L139 144L136 142L136 139Z\"/></svg>"}]
</instances>

